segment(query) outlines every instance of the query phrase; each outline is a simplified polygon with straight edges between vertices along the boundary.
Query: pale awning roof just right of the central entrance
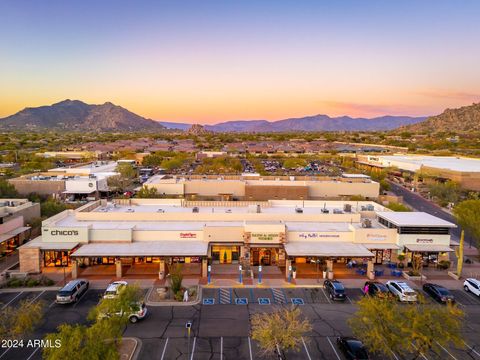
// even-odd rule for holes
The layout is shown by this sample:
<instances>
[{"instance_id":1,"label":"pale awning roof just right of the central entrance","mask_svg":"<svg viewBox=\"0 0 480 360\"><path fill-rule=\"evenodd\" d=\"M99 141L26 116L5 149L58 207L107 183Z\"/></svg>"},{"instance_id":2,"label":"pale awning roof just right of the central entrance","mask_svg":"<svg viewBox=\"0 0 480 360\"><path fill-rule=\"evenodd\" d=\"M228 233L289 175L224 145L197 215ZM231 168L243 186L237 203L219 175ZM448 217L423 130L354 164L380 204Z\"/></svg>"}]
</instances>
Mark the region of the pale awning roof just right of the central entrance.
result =
<instances>
[{"instance_id":1,"label":"pale awning roof just right of the central entrance","mask_svg":"<svg viewBox=\"0 0 480 360\"><path fill-rule=\"evenodd\" d=\"M285 244L288 256L373 257L361 244L348 242L294 241Z\"/></svg>"}]
</instances>

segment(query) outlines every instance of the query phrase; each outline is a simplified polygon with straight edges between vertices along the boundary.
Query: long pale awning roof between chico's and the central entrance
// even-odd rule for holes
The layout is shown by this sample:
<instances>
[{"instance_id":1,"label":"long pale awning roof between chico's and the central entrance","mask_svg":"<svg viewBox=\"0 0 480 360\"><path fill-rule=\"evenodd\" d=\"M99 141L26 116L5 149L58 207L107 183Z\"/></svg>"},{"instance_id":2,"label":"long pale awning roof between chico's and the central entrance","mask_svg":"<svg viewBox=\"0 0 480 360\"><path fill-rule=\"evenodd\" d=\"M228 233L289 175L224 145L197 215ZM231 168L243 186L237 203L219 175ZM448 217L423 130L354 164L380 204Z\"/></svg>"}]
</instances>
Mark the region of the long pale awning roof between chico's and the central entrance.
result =
<instances>
[{"instance_id":1,"label":"long pale awning roof between chico's and the central entrance","mask_svg":"<svg viewBox=\"0 0 480 360\"><path fill-rule=\"evenodd\" d=\"M208 243L202 241L108 242L82 245L72 256L206 256L207 251Z\"/></svg>"}]
</instances>

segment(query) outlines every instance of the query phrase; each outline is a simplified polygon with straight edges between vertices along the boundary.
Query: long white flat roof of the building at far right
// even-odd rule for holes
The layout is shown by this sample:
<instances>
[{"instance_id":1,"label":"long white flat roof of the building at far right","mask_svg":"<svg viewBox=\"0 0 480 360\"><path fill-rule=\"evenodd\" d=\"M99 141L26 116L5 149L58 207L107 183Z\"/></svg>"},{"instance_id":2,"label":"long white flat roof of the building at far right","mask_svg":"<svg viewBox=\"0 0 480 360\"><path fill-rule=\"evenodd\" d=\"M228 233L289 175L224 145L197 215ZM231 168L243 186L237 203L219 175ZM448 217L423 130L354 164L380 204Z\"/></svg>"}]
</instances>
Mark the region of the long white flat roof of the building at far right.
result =
<instances>
[{"instance_id":1,"label":"long white flat roof of the building at far right","mask_svg":"<svg viewBox=\"0 0 480 360\"><path fill-rule=\"evenodd\" d=\"M386 155L380 158L459 172L480 172L480 159L473 158L424 155Z\"/></svg>"}]
</instances>

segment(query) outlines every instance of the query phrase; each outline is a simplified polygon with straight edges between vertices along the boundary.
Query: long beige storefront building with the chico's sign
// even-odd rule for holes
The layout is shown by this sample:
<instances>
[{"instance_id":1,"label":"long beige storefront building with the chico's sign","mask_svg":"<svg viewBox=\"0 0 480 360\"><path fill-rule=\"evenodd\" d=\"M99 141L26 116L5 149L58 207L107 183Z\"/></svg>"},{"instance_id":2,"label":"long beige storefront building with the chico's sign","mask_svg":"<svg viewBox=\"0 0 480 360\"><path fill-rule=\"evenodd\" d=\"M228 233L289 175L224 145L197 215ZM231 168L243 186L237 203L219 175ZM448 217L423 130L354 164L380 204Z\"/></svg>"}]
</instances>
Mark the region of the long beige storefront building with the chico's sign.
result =
<instances>
[{"instance_id":1,"label":"long beige storefront building with the chico's sign","mask_svg":"<svg viewBox=\"0 0 480 360\"><path fill-rule=\"evenodd\" d=\"M162 278L183 263L205 277L208 264L212 271L238 264L285 275L298 267L301 277L320 263L333 270L350 259L372 270L398 254L447 259L452 227L370 201L98 200L45 220L42 235L20 248L20 271L71 266L73 277L109 268L117 277L145 271Z\"/></svg>"}]
</instances>

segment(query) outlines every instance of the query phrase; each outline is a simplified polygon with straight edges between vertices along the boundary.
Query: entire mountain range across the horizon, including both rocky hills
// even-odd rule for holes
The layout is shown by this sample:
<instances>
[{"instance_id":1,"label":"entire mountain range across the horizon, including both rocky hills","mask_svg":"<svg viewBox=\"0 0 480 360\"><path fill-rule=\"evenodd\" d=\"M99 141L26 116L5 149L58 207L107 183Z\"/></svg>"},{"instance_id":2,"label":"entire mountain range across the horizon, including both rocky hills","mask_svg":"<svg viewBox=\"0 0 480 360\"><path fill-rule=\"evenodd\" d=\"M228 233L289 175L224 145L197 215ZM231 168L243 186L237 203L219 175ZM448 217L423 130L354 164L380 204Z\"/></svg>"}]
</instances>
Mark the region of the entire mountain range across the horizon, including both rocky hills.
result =
<instances>
[{"instance_id":1,"label":"entire mountain range across the horizon, including both rocky hills","mask_svg":"<svg viewBox=\"0 0 480 360\"><path fill-rule=\"evenodd\" d=\"M79 100L64 100L50 106L25 108L0 119L0 129L68 131L164 131L188 130L192 124L155 121L106 102L90 105ZM287 132L287 131L382 131L397 128L411 131L455 129L480 130L480 104L447 109L431 117L381 116L376 118L329 117L314 115L278 121L239 120L205 125L214 132Z\"/></svg>"}]
</instances>

